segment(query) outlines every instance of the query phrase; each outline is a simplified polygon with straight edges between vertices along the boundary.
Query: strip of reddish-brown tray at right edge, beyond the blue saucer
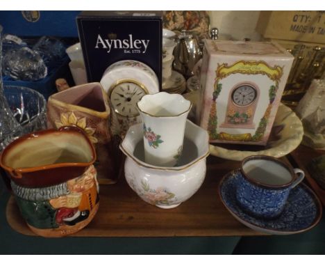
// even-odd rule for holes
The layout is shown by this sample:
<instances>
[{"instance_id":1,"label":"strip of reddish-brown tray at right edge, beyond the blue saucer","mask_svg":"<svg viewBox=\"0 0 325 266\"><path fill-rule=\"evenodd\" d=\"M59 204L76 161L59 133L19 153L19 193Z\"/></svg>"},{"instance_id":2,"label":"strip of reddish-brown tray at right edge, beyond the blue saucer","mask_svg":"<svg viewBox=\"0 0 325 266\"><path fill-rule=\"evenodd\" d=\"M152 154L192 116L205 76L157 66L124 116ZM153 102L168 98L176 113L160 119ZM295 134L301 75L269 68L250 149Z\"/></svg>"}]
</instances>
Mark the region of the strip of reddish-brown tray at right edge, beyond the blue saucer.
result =
<instances>
[{"instance_id":1,"label":"strip of reddish-brown tray at right edge, beyond the blue saucer","mask_svg":"<svg viewBox=\"0 0 325 266\"><path fill-rule=\"evenodd\" d=\"M314 150L313 148L309 148L303 145L300 145L296 150L290 153L290 156L297 164L297 167L305 172L305 179L313 191L315 191L323 206L325 206L325 190L322 189L322 187L319 187L317 182L311 177L308 169L306 169L306 166L313 158L324 154L325 150Z\"/></svg>"}]
</instances>

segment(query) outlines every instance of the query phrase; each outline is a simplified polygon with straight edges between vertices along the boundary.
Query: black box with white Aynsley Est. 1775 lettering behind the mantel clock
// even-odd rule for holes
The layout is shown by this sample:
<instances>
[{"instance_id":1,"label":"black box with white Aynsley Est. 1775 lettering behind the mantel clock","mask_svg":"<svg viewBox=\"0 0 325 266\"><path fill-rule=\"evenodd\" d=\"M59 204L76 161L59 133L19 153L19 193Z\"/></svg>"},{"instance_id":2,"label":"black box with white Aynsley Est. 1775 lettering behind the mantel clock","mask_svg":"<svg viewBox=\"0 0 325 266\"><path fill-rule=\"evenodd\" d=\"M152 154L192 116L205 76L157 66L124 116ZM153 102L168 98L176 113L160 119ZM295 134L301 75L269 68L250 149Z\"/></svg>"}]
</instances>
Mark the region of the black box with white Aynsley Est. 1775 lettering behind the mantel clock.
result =
<instances>
[{"instance_id":1,"label":"black box with white Aynsley Est. 1775 lettering behind the mantel clock","mask_svg":"<svg viewBox=\"0 0 325 266\"><path fill-rule=\"evenodd\" d=\"M132 59L149 65L160 81L161 11L84 11L77 17L88 81L100 81L111 64Z\"/></svg>"}]
</instances>

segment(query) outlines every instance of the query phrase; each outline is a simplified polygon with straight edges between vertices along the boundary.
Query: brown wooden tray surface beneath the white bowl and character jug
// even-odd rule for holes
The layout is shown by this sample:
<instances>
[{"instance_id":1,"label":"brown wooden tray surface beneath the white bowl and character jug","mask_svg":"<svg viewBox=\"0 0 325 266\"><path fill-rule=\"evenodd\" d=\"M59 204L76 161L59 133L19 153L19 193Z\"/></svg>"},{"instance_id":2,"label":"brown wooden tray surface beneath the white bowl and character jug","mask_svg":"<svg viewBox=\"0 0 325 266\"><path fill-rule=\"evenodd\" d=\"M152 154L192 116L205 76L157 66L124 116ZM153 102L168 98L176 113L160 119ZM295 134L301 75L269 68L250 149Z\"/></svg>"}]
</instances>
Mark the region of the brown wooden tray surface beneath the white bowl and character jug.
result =
<instances>
[{"instance_id":1,"label":"brown wooden tray surface beneath the white bowl and character jug","mask_svg":"<svg viewBox=\"0 0 325 266\"><path fill-rule=\"evenodd\" d=\"M177 208L163 210L142 201L128 187L124 175L115 185L101 185L99 211L92 222L72 237L174 237L263 235L240 224L224 208L218 185L223 175L240 162L208 157L202 187ZM22 219L15 198L8 201L10 226L24 235L35 235Z\"/></svg>"}]
</instances>

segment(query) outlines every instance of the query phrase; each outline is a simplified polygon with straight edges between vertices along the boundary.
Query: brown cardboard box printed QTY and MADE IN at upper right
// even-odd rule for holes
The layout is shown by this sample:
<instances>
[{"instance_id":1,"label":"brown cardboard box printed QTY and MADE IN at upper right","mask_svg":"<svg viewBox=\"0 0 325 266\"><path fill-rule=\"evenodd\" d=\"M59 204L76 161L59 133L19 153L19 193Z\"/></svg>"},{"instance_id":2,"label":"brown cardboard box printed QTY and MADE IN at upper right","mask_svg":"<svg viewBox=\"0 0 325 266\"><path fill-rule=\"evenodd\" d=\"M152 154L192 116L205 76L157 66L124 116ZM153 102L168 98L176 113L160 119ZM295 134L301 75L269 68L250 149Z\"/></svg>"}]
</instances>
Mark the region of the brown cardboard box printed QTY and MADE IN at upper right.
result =
<instances>
[{"instance_id":1,"label":"brown cardboard box printed QTY and MADE IN at upper right","mask_svg":"<svg viewBox=\"0 0 325 266\"><path fill-rule=\"evenodd\" d=\"M265 38L325 44L324 11L261 11L256 25Z\"/></svg>"}]
</instances>

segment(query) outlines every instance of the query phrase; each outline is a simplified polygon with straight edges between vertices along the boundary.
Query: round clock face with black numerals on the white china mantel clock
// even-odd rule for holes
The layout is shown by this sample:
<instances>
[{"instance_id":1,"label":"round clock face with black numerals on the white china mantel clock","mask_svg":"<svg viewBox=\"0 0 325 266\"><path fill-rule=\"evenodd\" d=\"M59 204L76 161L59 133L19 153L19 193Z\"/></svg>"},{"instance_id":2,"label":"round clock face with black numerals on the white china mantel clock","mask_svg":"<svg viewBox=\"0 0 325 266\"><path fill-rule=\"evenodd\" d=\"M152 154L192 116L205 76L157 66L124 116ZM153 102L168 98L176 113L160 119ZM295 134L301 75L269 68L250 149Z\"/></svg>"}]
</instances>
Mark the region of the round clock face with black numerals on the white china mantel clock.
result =
<instances>
[{"instance_id":1,"label":"round clock face with black numerals on the white china mantel clock","mask_svg":"<svg viewBox=\"0 0 325 266\"><path fill-rule=\"evenodd\" d=\"M122 82L113 88L110 102L117 114L121 116L138 116L137 102L147 93L138 84Z\"/></svg>"}]
</instances>

